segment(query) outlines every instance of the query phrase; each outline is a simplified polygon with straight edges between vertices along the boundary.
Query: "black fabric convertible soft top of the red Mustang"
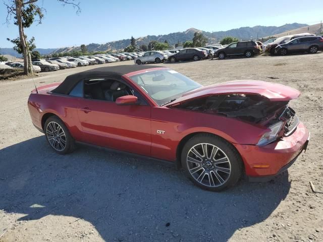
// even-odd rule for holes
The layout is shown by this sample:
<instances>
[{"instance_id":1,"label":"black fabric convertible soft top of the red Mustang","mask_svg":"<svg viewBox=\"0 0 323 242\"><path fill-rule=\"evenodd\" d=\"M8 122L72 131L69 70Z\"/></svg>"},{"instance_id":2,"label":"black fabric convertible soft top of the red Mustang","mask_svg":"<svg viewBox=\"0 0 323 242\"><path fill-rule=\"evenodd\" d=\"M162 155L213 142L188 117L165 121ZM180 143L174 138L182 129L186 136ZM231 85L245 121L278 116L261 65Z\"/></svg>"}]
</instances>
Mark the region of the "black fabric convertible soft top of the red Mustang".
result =
<instances>
[{"instance_id":1,"label":"black fabric convertible soft top of the red Mustang","mask_svg":"<svg viewBox=\"0 0 323 242\"><path fill-rule=\"evenodd\" d=\"M69 94L70 91L75 87L75 85L83 79L87 78L103 78L110 77L113 79L120 79L121 76L137 72L141 70L151 69L151 68L163 68L158 66L146 66L146 65L122 65L115 67L100 67L85 72L76 73L68 76L65 80L51 92ZM164 67L165 68L165 67Z\"/></svg>"}]
</instances>

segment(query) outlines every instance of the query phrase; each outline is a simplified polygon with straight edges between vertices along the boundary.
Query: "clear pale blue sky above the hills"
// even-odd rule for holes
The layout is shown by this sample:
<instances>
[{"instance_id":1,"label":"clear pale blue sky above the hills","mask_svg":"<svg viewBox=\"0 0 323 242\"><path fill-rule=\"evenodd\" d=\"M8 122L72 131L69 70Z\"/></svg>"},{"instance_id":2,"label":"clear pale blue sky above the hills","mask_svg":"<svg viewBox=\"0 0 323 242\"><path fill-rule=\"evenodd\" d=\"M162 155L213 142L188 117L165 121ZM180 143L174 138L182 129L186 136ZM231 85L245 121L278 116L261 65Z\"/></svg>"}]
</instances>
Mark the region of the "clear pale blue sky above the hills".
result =
<instances>
[{"instance_id":1,"label":"clear pale blue sky above the hills","mask_svg":"<svg viewBox=\"0 0 323 242\"><path fill-rule=\"evenodd\" d=\"M18 27L7 25L7 10L0 1L0 48L12 47L6 38L18 36ZM191 27L221 31L245 26L281 26L286 23L316 24L323 20L322 0L192 1L192 0L75 0L81 13L56 0L39 0L46 9L42 24L26 30L37 48L58 48L105 43L146 35L185 31ZM276 2L276 3L275 3ZM313 8L317 6L317 8Z\"/></svg>"}]
</instances>

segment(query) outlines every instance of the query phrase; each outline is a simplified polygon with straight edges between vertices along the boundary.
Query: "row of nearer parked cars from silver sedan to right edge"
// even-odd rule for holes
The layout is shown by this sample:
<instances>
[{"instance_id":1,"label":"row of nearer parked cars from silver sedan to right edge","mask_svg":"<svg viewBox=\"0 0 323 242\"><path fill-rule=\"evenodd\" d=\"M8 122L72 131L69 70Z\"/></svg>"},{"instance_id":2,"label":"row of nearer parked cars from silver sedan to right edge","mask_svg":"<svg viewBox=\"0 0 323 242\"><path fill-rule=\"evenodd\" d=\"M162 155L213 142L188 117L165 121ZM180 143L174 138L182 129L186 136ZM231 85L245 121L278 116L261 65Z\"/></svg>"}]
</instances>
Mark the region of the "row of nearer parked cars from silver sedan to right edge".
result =
<instances>
[{"instance_id":1,"label":"row of nearer parked cars from silver sedan to right edge","mask_svg":"<svg viewBox=\"0 0 323 242\"><path fill-rule=\"evenodd\" d=\"M260 41L239 41L227 46L221 44L207 45L199 48L180 50L148 51L134 59L135 64L160 63L170 61L198 61L209 57L225 59L232 56L251 57L262 52L272 55L286 55L295 52L316 53L323 50L323 38L315 34L303 33Z\"/></svg>"}]
</instances>

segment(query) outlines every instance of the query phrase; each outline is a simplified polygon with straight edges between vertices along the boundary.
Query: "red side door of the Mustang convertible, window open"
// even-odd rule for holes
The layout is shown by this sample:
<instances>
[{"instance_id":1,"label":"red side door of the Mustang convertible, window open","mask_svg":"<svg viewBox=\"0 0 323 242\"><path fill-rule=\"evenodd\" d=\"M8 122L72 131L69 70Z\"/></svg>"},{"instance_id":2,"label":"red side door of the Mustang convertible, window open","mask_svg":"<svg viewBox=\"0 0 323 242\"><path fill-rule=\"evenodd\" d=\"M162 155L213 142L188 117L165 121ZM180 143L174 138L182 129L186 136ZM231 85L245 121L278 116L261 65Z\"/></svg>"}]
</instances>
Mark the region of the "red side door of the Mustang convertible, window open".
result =
<instances>
[{"instance_id":1,"label":"red side door of the Mustang convertible, window open","mask_svg":"<svg viewBox=\"0 0 323 242\"><path fill-rule=\"evenodd\" d=\"M82 83L84 97L80 100L78 115L83 131L83 142L150 156L150 105L129 85L127 88L134 91L139 100L138 104L117 105L115 100L106 100L104 95L101 99L96 99L100 96L90 97L86 95L88 93L86 85L96 85L91 84L95 81L101 82L99 85L102 85L102 80L97 79L83 80ZM116 82L116 80L110 81ZM125 85L121 80L120 83ZM101 90L103 93L110 91L109 88L104 89L104 86Z\"/></svg>"}]
</instances>

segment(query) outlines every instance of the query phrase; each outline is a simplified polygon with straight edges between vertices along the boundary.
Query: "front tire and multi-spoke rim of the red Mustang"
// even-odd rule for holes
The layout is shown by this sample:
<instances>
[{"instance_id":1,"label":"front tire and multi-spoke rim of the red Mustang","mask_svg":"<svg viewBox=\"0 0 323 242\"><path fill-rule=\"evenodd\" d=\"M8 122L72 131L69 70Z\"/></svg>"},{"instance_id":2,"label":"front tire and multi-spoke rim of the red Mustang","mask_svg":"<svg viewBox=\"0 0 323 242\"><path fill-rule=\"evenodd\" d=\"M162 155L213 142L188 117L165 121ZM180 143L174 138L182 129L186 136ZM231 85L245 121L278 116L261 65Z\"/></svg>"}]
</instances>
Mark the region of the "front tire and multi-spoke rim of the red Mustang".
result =
<instances>
[{"instance_id":1,"label":"front tire and multi-spoke rim of the red Mustang","mask_svg":"<svg viewBox=\"0 0 323 242\"><path fill-rule=\"evenodd\" d=\"M194 161L193 162L187 161L187 157L194 154L192 153L193 147L196 150L198 150L198 147L203 148L202 144L203 145L207 144L207 146L205 147L208 147L208 148L210 147L219 148L214 153L213 158L219 157L219 159L217 160L220 160L220 159L222 160L227 159L227 160L225 162L217 163L216 160L211 158L209 160L206 160L204 156L204 158L202 158L201 161L195 162L196 167L194 168ZM206 150L208 148L206 148ZM213 154L213 150L208 150L207 152L211 153L210 154L210 157L211 157ZM224 158L221 158L222 155L224 155ZM196 161L200 158L198 158L198 156L195 156L194 159ZM243 172L242 159L238 151L233 147L233 145L231 145L229 142L222 139L221 137L211 135L211 134L199 134L189 139L183 147L182 154L181 154L181 163L182 163L182 167L185 170L185 173L188 175L188 177L196 186L200 187L201 189L213 191L213 192L220 192L227 188L233 187L238 182ZM191 165L193 165L193 168L191 167ZM211 165L211 166L208 166L208 165ZM228 174L227 172L221 171L220 169L224 169L224 170L230 169L230 174ZM193 173L191 173L190 170ZM208 179L206 179L206 175L205 175L206 173L207 173ZM197 179L199 178L196 179L196 177L194 177L198 175L199 177L202 176L201 182L197 181ZM204 177L206 180L204 179ZM222 178L223 181L221 181L220 178ZM202 184L204 181L205 183L209 183L209 186ZM213 186L211 184L213 184Z\"/></svg>"}]
</instances>

